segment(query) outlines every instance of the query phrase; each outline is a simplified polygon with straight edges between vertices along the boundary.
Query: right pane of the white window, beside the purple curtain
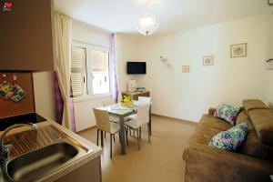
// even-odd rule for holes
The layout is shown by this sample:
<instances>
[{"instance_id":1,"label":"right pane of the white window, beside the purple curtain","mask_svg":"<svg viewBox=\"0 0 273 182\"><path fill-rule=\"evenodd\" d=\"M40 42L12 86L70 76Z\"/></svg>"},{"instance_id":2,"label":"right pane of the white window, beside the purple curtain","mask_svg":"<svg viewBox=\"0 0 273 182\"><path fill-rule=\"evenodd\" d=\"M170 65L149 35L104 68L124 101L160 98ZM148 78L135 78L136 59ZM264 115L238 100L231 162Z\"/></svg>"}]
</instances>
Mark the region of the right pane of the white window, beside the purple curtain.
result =
<instances>
[{"instance_id":1,"label":"right pane of the white window, beside the purple curtain","mask_svg":"<svg viewBox=\"0 0 273 182\"><path fill-rule=\"evenodd\" d=\"M106 51L91 51L93 94L106 94L110 92L109 83L109 53Z\"/></svg>"}]
</instances>

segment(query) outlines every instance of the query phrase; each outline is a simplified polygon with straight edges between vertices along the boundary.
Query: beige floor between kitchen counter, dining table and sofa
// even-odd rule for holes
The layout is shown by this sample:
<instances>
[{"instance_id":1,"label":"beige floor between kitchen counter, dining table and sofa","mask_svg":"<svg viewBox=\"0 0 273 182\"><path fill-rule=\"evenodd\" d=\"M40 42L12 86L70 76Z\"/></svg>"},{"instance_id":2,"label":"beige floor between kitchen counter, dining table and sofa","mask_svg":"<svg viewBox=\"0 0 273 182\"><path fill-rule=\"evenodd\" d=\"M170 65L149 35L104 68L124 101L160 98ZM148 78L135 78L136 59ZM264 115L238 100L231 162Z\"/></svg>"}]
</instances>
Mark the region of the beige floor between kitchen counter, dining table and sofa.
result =
<instances>
[{"instance_id":1,"label":"beige floor between kitchen counter, dining table and sofa","mask_svg":"<svg viewBox=\"0 0 273 182\"><path fill-rule=\"evenodd\" d=\"M147 142L147 127L143 128L140 150L136 138L128 136L129 147L126 156L120 155L116 134L113 158L109 156L109 136L103 149L103 182L183 182L185 162L184 148L196 125L161 116L153 116L151 143ZM80 133L96 144L96 128Z\"/></svg>"}]
</instances>

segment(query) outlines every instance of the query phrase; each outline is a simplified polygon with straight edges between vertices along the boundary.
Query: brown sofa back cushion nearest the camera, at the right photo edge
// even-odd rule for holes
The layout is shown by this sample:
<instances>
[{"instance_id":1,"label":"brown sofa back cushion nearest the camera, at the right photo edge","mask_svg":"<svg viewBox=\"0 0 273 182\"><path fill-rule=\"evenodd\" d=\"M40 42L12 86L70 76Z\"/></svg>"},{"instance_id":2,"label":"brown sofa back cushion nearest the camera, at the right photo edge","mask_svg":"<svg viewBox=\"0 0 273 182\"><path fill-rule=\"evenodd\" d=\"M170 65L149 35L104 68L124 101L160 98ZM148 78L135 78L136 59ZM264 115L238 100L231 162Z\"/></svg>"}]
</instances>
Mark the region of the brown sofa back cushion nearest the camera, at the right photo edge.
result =
<instances>
[{"instance_id":1,"label":"brown sofa back cushion nearest the camera, at the right photo edge","mask_svg":"<svg viewBox=\"0 0 273 182\"><path fill-rule=\"evenodd\" d=\"M258 139L263 144L273 146L273 109L254 109L248 111Z\"/></svg>"}]
</instances>

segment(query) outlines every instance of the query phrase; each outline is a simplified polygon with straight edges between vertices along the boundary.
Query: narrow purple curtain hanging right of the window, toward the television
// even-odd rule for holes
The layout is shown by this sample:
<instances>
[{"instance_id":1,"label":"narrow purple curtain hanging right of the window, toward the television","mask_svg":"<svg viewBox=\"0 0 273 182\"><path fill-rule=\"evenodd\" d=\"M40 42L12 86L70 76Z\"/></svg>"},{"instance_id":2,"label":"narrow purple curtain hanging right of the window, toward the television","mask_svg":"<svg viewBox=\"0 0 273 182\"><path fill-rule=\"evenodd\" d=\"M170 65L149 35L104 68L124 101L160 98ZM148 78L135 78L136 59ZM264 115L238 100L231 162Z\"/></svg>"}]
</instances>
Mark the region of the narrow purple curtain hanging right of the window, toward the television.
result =
<instances>
[{"instance_id":1,"label":"narrow purple curtain hanging right of the window, toward the television","mask_svg":"<svg viewBox=\"0 0 273 182\"><path fill-rule=\"evenodd\" d=\"M118 87L117 87L117 76L116 76L116 44L115 34L110 35L110 73L112 78L112 94L115 102L118 100Z\"/></svg>"}]
</instances>

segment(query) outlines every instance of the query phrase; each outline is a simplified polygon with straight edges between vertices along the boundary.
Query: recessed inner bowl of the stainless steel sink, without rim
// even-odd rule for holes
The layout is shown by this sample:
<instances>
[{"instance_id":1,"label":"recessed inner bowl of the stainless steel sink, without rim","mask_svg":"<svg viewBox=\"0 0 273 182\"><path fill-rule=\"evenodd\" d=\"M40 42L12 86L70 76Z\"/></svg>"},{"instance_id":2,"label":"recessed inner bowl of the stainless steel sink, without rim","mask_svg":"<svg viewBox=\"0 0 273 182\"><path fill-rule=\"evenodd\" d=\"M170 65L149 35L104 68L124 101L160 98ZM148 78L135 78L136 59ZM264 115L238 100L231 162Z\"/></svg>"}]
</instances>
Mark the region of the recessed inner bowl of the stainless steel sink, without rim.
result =
<instances>
[{"instance_id":1,"label":"recessed inner bowl of the stainless steel sink, without rim","mask_svg":"<svg viewBox=\"0 0 273 182\"><path fill-rule=\"evenodd\" d=\"M76 147L67 143L56 143L9 161L6 172L12 181L33 181L42 177L45 172L60 167L77 154Z\"/></svg>"}]
</instances>

